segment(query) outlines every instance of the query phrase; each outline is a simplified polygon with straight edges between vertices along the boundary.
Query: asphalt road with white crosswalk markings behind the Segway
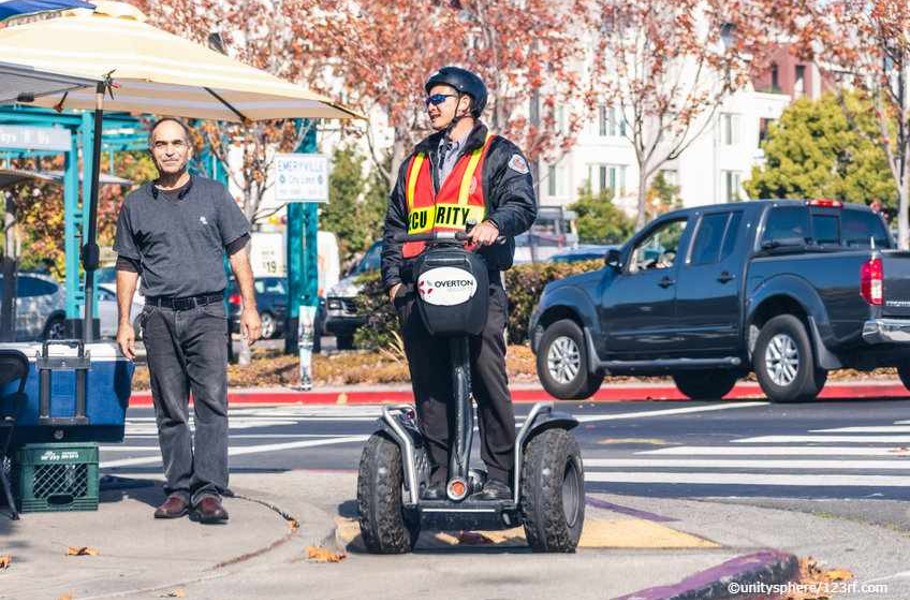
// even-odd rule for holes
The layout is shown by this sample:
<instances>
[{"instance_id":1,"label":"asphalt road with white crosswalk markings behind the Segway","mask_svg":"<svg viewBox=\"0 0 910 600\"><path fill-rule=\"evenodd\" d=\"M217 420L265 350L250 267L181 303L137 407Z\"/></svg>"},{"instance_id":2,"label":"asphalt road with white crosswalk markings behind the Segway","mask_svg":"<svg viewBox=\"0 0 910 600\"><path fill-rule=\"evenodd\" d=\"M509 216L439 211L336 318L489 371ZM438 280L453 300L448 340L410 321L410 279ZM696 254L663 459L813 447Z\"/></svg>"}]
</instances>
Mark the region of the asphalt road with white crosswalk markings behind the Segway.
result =
<instances>
[{"instance_id":1,"label":"asphalt road with white crosswalk markings behind the Segway","mask_svg":"<svg viewBox=\"0 0 910 600\"><path fill-rule=\"evenodd\" d=\"M843 505L852 516L869 512L871 520L910 530L910 400L562 408L581 421L575 431L589 491L834 512ZM519 423L529 409L517 406ZM378 406L232 408L231 468L355 470L379 412ZM160 473L155 432L151 409L130 409L124 443L102 447L103 471ZM475 455L478 445L475 439Z\"/></svg>"}]
</instances>

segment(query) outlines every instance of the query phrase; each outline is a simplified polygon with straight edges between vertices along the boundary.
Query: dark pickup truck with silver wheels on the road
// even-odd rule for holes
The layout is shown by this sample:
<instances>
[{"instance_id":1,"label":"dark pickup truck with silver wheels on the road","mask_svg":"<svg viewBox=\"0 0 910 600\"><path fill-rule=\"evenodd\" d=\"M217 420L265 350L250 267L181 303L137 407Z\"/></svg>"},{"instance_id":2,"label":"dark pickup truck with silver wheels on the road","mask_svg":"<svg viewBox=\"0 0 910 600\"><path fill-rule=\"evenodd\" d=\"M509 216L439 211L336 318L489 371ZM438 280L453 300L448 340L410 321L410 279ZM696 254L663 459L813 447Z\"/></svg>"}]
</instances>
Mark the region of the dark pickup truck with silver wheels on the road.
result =
<instances>
[{"instance_id":1,"label":"dark pickup truck with silver wheels on the road","mask_svg":"<svg viewBox=\"0 0 910 600\"><path fill-rule=\"evenodd\" d=\"M834 200L760 200L661 216L604 268L550 283L531 316L544 388L587 398L609 375L670 375L720 398L754 371L775 402L828 371L894 366L910 387L910 252Z\"/></svg>"}]
</instances>

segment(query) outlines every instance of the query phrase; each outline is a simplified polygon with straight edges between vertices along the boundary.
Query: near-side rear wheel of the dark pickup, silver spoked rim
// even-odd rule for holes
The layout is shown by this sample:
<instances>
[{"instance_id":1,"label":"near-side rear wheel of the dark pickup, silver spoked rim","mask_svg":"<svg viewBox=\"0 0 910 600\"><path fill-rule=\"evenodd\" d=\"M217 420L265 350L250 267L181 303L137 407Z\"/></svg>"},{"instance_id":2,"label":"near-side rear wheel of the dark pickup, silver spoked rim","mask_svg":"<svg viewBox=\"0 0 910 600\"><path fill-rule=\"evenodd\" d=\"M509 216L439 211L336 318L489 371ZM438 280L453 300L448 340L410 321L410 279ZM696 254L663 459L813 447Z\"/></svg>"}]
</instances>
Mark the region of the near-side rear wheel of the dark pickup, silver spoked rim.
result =
<instances>
[{"instance_id":1,"label":"near-side rear wheel of the dark pickup, silver spoked rim","mask_svg":"<svg viewBox=\"0 0 910 600\"><path fill-rule=\"evenodd\" d=\"M828 379L828 372L815 366L805 325L793 315L778 315L765 323L755 342L752 366L771 402L812 400Z\"/></svg>"}]
</instances>

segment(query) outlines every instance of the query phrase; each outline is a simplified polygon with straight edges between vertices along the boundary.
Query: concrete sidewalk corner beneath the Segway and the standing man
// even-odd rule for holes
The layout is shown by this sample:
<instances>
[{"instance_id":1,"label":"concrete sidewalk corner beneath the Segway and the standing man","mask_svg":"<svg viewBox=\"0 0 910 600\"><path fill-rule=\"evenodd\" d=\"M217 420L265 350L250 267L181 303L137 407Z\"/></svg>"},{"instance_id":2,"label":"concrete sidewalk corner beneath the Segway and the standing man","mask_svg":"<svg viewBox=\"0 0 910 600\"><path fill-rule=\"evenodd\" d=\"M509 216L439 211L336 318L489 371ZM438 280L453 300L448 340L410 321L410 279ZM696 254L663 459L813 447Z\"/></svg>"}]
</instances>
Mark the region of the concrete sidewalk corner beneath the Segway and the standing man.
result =
<instances>
[{"instance_id":1,"label":"concrete sidewalk corner beneath the Segway and the standing man","mask_svg":"<svg viewBox=\"0 0 910 600\"><path fill-rule=\"evenodd\" d=\"M243 472L231 481L226 525L153 519L163 494L147 473L105 480L97 512L0 516L0 555L11 556L0 598L735 598L732 583L790 580L796 556L842 561L906 546L897 532L830 518L589 495L574 555L532 554L517 530L486 540L424 532L414 553L383 557L358 545L355 473ZM99 554L66 556L70 546ZM345 558L308 560L309 546ZM857 575L899 568L901 553Z\"/></svg>"}]
</instances>

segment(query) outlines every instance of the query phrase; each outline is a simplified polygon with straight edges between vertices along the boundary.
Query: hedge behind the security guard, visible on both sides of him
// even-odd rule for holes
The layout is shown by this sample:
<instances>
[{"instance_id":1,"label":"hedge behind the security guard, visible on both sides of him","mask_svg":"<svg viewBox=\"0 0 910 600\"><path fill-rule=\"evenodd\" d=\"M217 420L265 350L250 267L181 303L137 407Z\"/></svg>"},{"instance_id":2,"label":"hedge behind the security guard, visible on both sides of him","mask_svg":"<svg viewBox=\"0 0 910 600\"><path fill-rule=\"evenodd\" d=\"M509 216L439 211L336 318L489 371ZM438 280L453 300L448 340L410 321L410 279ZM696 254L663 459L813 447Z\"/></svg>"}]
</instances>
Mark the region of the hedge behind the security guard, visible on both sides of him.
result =
<instances>
[{"instance_id":1,"label":"hedge behind the security guard, visible on both sides of him","mask_svg":"<svg viewBox=\"0 0 910 600\"><path fill-rule=\"evenodd\" d=\"M602 260L575 263L537 263L512 267L506 271L506 291L509 296L509 343L528 342L528 320L537 306L545 285L570 275L596 271ZM366 316L366 325L357 330L354 341L358 348L378 350L395 346L395 334L400 335L398 315L378 273L363 275L359 280L363 291L355 302L357 312Z\"/></svg>"}]
</instances>

